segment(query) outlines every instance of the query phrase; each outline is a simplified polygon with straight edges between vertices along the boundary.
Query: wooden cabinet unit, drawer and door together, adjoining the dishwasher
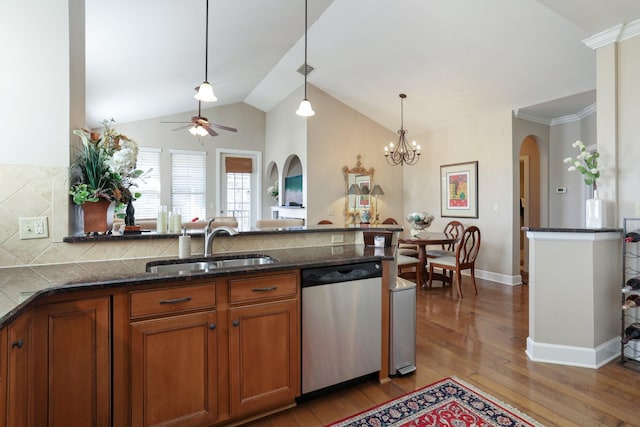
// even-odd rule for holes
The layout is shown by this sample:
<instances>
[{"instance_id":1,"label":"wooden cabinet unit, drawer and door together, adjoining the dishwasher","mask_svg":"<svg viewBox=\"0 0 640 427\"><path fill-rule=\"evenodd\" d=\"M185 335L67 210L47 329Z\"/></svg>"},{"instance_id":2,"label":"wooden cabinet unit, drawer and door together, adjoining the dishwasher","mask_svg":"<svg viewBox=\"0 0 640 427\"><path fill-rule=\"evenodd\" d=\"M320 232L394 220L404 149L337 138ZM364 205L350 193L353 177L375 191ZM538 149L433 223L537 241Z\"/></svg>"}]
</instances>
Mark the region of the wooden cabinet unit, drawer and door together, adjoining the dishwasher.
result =
<instances>
[{"instance_id":1,"label":"wooden cabinet unit, drawer and door together, adjoining the dishwasher","mask_svg":"<svg viewBox=\"0 0 640 427\"><path fill-rule=\"evenodd\" d=\"M229 281L229 404L232 416L291 403L300 394L295 273Z\"/></svg>"}]
</instances>

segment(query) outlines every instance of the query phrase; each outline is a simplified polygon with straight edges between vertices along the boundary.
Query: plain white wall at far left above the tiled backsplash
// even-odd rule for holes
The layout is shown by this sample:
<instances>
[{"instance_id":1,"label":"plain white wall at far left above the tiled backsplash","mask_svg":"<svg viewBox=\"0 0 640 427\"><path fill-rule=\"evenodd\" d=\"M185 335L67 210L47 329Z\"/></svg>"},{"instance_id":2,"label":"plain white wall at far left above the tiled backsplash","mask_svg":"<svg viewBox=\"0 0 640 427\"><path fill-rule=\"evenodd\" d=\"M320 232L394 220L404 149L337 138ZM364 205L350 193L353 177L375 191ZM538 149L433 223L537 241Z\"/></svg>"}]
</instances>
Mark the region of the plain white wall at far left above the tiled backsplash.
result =
<instances>
[{"instance_id":1,"label":"plain white wall at far left above the tiled backsplash","mask_svg":"<svg viewBox=\"0 0 640 427\"><path fill-rule=\"evenodd\" d=\"M69 165L68 3L0 2L2 163Z\"/></svg>"}]
</instances>

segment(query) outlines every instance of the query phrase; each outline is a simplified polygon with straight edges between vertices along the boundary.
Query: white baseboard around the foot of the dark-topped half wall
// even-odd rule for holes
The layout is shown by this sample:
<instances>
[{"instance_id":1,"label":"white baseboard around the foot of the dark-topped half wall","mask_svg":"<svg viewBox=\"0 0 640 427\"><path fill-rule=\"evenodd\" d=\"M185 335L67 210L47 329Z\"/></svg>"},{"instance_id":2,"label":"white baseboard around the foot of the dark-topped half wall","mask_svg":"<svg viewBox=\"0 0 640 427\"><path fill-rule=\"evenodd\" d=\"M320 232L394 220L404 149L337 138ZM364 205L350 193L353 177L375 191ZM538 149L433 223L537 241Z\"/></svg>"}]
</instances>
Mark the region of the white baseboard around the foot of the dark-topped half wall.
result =
<instances>
[{"instance_id":1,"label":"white baseboard around the foot of the dark-topped half wall","mask_svg":"<svg viewBox=\"0 0 640 427\"><path fill-rule=\"evenodd\" d=\"M534 362L598 369L620 357L620 338L611 338L595 348L538 343L527 337L527 357Z\"/></svg>"}]
</instances>

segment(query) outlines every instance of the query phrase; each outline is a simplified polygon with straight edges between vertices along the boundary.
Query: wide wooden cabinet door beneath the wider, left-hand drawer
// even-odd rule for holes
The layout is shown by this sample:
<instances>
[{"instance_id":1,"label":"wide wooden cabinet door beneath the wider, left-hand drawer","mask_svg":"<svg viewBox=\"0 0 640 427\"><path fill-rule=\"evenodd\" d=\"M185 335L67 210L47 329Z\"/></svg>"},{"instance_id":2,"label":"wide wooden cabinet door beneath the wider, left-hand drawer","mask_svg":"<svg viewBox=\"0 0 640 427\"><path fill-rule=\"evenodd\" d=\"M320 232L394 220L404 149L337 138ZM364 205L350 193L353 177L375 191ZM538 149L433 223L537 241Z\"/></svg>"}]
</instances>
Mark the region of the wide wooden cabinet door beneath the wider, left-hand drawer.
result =
<instances>
[{"instance_id":1,"label":"wide wooden cabinet door beneath the wider, left-hand drawer","mask_svg":"<svg viewBox=\"0 0 640 427\"><path fill-rule=\"evenodd\" d=\"M131 324L131 425L201 426L217 418L216 313Z\"/></svg>"}]
</instances>

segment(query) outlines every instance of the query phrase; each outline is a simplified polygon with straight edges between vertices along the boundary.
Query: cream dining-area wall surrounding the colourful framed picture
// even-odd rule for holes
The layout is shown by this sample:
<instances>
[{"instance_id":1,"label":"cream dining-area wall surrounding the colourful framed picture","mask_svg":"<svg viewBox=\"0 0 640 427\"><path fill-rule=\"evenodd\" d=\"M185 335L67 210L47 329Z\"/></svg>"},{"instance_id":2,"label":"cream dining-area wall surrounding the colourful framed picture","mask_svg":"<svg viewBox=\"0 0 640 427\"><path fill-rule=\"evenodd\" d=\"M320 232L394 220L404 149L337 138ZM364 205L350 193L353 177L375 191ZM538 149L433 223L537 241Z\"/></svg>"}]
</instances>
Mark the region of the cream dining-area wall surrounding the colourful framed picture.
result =
<instances>
[{"instance_id":1,"label":"cream dining-area wall surrounding the colourful framed picture","mask_svg":"<svg viewBox=\"0 0 640 427\"><path fill-rule=\"evenodd\" d=\"M511 135L511 112L481 122L461 121L416 137L423 155L417 165L404 167L404 212L432 213L436 218L431 229L442 230L453 218L440 216L440 166L478 161L478 218L456 219L480 228L482 244L476 269L491 272L490 278L505 283L519 280L512 248L514 229L518 228L514 224L518 199L513 196L517 171Z\"/></svg>"}]
</instances>

